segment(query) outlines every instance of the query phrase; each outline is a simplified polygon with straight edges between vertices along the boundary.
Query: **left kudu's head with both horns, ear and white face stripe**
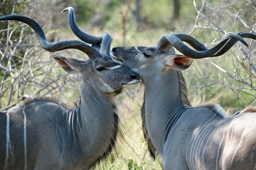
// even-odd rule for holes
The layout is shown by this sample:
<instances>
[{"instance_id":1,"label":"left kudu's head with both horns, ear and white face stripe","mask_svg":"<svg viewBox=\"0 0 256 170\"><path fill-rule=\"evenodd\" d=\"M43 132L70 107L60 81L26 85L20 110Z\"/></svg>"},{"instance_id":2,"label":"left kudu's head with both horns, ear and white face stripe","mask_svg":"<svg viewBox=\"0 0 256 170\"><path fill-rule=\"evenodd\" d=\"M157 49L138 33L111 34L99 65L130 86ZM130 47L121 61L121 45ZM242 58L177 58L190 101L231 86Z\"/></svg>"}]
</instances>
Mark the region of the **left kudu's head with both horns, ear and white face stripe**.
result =
<instances>
[{"instance_id":1,"label":"left kudu's head with both horns, ear and white face stripe","mask_svg":"<svg viewBox=\"0 0 256 170\"><path fill-rule=\"evenodd\" d=\"M69 7L63 10L63 12L65 11L69 11L69 23L72 31L78 38L86 43L77 40L64 40L48 43L39 24L25 16L6 16L1 17L0 21L16 20L28 24L36 32L42 48L49 52L77 49L86 53L89 57L89 60L86 61L57 56L53 56L53 58L67 73L80 74L84 80L91 81L97 89L101 89L103 92L121 92L124 86L139 82L139 75L137 73L113 62L110 56L110 48L113 38L109 34L105 33L102 36L96 37L83 33L75 23L74 9ZM101 44L100 51L98 51L99 48L97 45L91 47L87 43Z\"/></svg>"}]
</instances>

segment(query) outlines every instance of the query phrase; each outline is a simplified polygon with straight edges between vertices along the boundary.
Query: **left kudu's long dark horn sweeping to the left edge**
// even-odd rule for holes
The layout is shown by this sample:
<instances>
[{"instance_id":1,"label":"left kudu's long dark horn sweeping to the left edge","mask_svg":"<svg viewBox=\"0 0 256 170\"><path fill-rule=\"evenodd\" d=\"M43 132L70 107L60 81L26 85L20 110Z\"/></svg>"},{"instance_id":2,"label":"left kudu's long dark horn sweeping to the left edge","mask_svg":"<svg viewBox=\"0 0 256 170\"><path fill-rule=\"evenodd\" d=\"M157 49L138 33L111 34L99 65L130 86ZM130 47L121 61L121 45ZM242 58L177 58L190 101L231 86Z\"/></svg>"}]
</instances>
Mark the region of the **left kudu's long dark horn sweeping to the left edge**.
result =
<instances>
[{"instance_id":1,"label":"left kudu's long dark horn sweeping to the left edge","mask_svg":"<svg viewBox=\"0 0 256 170\"><path fill-rule=\"evenodd\" d=\"M5 21L5 20L20 21L29 25L36 32L39 43L42 46L42 48L49 52L55 52L55 51L60 51L64 49L77 49L86 53L90 59L101 57L101 54L96 49L94 49L93 47L89 46L86 43L83 43L77 40L63 40L55 43L48 43L46 40L45 34L42 28L39 26L39 24L28 17L20 16L20 15L0 17L0 21Z\"/></svg>"}]
</instances>

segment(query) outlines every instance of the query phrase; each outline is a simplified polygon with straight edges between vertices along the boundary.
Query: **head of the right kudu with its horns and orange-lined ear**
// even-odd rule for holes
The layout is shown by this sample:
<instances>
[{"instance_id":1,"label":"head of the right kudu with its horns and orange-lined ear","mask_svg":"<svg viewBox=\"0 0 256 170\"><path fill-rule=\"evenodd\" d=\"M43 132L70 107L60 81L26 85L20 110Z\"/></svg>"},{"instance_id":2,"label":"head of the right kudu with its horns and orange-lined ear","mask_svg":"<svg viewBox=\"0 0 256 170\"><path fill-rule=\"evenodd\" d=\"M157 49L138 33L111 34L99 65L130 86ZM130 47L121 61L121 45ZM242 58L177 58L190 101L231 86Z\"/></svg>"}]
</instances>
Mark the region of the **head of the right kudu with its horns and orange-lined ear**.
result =
<instances>
[{"instance_id":1,"label":"head of the right kudu with its horns and orange-lined ear","mask_svg":"<svg viewBox=\"0 0 256 170\"><path fill-rule=\"evenodd\" d=\"M169 69L185 70L190 67L193 59L220 56L237 41L241 41L248 47L242 38L256 39L256 36L246 32L227 33L216 46L208 49L186 34L164 35L154 47L115 47L112 49L112 57L116 62L121 62L144 79ZM196 50L189 48L182 41L187 42ZM175 54L174 48L182 55Z\"/></svg>"}]
</instances>

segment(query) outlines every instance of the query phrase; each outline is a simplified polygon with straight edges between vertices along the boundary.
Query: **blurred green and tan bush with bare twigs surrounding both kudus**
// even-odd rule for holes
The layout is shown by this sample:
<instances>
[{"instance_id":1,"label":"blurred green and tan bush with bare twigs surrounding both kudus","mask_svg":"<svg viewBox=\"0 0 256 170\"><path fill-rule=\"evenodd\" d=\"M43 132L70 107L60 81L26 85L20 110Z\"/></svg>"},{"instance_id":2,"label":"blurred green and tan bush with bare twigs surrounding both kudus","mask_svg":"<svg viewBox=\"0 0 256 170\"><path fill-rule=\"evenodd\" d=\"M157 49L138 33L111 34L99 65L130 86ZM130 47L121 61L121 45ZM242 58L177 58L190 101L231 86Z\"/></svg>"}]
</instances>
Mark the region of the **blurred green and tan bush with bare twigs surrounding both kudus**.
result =
<instances>
[{"instance_id":1,"label":"blurred green and tan bush with bare twigs surrounding both kudus","mask_svg":"<svg viewBox=\"0 0 256 170\"><path fill-rule=\"evenodd\" d=\"M84 32L99 36L105 32L115 46L154 46L164 34L186 33L207 47L213 47L227 32L256 30L255 0L4 0L0 16L18 14L34 19L43 28L48 42L76 39L68 24L67 7L75 9L76 22ZM255 106L255 41L250 49L237 43L226 54L194 60L183 71L194 105L219 103L230 115ZM179 53L179 52L177 52ZM65 50L54 53L87 59L83 53ZM79 96L80 77L67 75L42 50L26 24L0 22L0 110L19 104L30 96L57 96L72 103ZM125 127L126 143L117 160L103 169L161 169L152 160L143 139L140 106L143 88L139 85L117 98Z\"/></svg>"}]
</instances>

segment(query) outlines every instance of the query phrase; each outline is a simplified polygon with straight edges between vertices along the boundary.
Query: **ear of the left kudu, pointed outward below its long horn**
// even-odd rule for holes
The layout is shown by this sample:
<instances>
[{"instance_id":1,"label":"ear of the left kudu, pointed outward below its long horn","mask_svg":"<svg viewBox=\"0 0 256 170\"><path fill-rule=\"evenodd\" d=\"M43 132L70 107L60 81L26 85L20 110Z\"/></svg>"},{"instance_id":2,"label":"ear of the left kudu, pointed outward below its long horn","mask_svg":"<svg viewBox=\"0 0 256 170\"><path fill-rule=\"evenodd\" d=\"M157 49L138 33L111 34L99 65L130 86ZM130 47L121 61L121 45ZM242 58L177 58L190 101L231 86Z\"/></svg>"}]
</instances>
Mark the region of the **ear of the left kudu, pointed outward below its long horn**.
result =
<instances>
[{"instance_id":1,"label":"ear of the left kudu, pointed outward below its long horn","mask_svg":"<svg viewBox=\"0 0 256 170\"><path fill-rule=\"evenodd\" d=\"M58 57L58 56L53 56L53 58L68 74L80 73L79 70L82 69L82 66L84 64L83 61L72 59L72 58Z\"/></svg>"}]
</instances>

